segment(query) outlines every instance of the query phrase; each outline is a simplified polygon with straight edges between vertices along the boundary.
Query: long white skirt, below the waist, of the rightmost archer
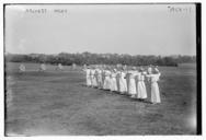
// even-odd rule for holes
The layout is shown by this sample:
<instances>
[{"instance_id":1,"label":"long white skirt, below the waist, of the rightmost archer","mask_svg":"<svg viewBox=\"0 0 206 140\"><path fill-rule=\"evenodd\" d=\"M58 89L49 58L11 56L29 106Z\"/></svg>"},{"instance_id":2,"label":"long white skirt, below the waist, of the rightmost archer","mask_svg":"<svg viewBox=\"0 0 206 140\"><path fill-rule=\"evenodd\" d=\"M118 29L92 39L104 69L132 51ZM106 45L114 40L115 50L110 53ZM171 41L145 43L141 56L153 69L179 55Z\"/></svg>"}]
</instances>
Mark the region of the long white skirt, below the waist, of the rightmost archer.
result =
<instances>
[{"instance_id":1,"label":"long white skirt, below the waist, of the rightmost archer","mask_svg":"<svg viewBox=\"0 0 206 140\"><path fill-rule=\"evenodd\" d=\"M157 82L151 83L151 103L161 103L160 91Z\"/></svg>"}]
</instances>

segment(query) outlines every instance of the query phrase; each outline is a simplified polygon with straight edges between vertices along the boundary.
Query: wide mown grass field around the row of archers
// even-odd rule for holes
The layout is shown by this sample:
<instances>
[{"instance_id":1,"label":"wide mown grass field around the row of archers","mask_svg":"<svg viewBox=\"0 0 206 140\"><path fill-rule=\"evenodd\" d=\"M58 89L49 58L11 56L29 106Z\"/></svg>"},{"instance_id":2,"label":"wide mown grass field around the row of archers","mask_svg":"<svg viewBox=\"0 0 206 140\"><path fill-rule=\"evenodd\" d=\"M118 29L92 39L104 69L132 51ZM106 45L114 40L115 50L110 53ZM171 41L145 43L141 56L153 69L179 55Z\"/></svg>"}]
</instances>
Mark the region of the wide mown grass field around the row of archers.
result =
<instances>
[{"instance_id":1,"label":"wide mown grass field around the row of archers","mask_svg":"<svg viewBox=\"0 0 206 140\"><path fill-rule=\"evenodd\" d=\"M125 95L84 86L84 73L66 67L7 63L8 136L25 135L195 135L196 67L161 67L162 103L152 105ZM148 98L149 100L149 98Z\"/></svg>"}]
</instances>

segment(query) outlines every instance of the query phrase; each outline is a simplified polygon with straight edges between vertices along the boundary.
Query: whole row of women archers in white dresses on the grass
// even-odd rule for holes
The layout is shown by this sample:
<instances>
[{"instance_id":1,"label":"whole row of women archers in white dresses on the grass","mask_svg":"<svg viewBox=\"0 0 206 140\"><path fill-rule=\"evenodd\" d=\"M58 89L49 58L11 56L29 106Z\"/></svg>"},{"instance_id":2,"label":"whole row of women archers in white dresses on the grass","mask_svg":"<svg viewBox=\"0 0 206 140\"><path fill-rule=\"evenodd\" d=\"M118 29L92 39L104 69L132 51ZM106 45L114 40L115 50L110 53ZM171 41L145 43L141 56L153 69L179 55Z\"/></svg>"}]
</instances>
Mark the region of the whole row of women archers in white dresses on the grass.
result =
<instances>
[{"instance_id":1,"label":"whole row of women archers in white dresses on the grass","mask_svg":"<svg viewBox=\"0 0 206 140\"><path fill-rule=\"evenodd\" d=\"M160 92L157 81L160 72L147 73L137 70L116 71L104 69L85 69L87 85L128 94L133 98L145 100L148 97L147 92L151 94L151 103L160 103ZM150 70L151 71L151 70ZM148 83L148 91L145 81Z\"/></svg>"}]
</instances>

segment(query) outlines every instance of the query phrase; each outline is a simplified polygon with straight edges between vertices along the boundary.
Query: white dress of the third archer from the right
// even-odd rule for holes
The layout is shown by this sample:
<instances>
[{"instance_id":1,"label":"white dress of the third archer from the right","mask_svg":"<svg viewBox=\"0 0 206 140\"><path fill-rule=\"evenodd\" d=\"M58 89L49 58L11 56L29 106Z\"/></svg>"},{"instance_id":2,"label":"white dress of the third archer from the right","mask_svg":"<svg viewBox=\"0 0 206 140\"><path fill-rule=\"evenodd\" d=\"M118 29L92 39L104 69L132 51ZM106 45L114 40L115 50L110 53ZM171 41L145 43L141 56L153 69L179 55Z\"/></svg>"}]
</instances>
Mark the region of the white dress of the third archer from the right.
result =
<instances>
[{"instance_id":1,"label":"white dress of the third archer from the right","mask_svg":"<svg viewBox=\"0 0 206 140\"><path fill-rule=\"evenodd\" d=\"M128 93L133 96L137 94L135 77L136 77L136 73L130 72Z\"/></svg>"}]
</instances>

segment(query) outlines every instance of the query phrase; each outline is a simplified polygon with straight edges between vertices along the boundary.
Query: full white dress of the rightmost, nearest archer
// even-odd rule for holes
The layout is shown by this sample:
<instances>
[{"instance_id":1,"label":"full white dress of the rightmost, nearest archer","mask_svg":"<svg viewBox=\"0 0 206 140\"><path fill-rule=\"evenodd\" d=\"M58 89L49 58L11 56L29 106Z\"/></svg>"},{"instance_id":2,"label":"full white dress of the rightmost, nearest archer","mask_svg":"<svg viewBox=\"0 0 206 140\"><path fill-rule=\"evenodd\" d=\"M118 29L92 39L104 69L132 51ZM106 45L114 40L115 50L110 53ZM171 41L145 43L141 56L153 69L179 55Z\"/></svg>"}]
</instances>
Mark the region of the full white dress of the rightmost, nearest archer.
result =
<instances>
[{"instance_id":1,"label":"full white dress of the rightmost, nearest archer","mask_svg":"<svg viewBox=\"0 0 206 140\"><path fill-rule=\"evenodd\" d=\"M150 77L150 84L151 84L151 103L161 103L160 91L158 86L160 73L149 74L149 77Z\"/></svg>"}]
</instances>

